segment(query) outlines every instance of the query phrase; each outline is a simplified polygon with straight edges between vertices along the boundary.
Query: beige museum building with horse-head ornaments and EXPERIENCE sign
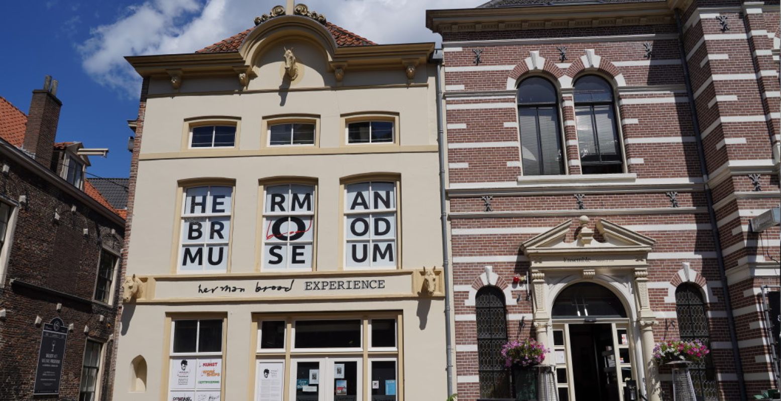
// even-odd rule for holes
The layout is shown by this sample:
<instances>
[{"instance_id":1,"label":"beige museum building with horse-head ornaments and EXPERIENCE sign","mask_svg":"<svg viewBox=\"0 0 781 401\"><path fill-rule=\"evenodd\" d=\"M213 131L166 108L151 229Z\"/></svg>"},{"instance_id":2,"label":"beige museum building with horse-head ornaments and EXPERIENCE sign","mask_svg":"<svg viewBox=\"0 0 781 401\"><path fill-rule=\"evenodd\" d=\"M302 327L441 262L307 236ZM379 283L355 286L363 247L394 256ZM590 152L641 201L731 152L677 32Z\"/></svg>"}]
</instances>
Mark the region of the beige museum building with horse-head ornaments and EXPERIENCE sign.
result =
<instances>
[{"instance_id":1,"label":"beige museum building with horse-head ornaments and EXPERIENCE sign","mask_svg":"<svg viewBox=\"0 0 781 401\"><path fill-rule=\"evenodd\" d=\"M116 401L446 398L433 48L288 4L128 58Z\"/></svg>"}]
</instances>

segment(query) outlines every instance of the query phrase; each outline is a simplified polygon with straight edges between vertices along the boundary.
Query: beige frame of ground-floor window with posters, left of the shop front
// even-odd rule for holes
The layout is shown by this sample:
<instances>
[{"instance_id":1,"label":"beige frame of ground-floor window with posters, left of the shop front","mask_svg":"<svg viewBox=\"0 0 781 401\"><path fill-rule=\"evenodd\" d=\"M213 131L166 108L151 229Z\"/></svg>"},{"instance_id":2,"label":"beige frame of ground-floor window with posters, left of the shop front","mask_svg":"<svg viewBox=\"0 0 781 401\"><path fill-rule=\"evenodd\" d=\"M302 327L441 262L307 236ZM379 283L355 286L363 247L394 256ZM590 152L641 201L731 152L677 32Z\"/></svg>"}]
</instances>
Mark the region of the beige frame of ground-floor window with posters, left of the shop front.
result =
<instances>
[{"instance_id":1,"label":"beige frame of ground-floor window with posters, left of the shop front","mask_svg":"<svg viewBox=\"0 0 781 401\"><path fill-rule=\"evenodd\" d=\"M196 332L196 352L194 353L174 353L173 352L173 339L176 335L176 328L175 328L175 322L176 321L186 321L186 320L195 320L198 321L198 325L195 328ZM219 320L222 321L222 333L221 333L221 342L220 342L220 351L219 353L214 352L208 352L208 353L198 353L197 347L198 347L198 335L200 335L200 321L205 320ZM171 389L172 383L170 382L171 378L171 363L173 360L181 360L181 359L199 359L199 357L204 357L203 359L218 359L216 357L219 356L219 359L222 361L220 364L220 386L218 389L205 389L206 391L219 391L220 399L224 399L225 397L225 371L226 371L226 342L227 342L227 326L228 326L228 319L227 314L225 313L213 313L213 312L206 312L206 313L171 313L166 314L166 322L165 322L165 335L163 339L163 345L164 349L166 350L166 353L164 354L166 365L162 369L162 392L166 394L166 397L170 396L170 393L172 391L177 391L176 389ZM167 338L165 337L167 335ZM167 349L165 348L167 346ZM184 358L183 358L184 357ZM194 369L194 375L197 375L197 369L198 367L193 367ZM178 391L188 391L188 390L178 390ZM192 390L193 392L196 392L195 389Z\"/></svg>"}]
</instances>

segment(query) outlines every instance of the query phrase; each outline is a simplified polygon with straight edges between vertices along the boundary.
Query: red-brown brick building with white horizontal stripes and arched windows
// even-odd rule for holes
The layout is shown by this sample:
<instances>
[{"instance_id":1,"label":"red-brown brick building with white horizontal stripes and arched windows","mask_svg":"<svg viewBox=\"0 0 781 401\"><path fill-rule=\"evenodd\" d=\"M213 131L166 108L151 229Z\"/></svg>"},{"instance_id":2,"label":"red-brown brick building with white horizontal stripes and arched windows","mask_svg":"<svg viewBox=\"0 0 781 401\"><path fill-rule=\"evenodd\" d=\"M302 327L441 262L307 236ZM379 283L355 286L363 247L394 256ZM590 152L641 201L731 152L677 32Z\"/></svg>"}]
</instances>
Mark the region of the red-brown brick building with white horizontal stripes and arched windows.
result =
<instances>
[{"instance_id":1,"label":"red-brown brick building with white horizontal stripes and arched windows","mask_svg":"<svg viewBox=\"0 0 781 401\"><path fill-rule=\"evenodd\" d=\"M698 398L777 389L779 227L750 222L779 206L779 2L493 0L426 26L459 401L514 399L499 351L529 337L560 401L672 399L651 353L679 338L712 350Z\"/></svg>"}]
</instances>

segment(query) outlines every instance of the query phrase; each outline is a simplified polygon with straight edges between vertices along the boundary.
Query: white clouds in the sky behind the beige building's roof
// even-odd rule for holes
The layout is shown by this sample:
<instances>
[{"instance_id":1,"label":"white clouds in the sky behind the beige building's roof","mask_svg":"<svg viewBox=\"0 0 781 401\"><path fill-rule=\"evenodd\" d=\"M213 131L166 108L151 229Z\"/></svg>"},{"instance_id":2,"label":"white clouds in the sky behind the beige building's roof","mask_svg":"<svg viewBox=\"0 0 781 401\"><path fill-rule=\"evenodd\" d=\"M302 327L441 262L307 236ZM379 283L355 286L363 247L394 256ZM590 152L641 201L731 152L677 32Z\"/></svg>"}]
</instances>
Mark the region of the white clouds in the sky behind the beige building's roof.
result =
<instances>
[{"instance_id":1,"label":"white clouds in the sky behind the beige building's roof","mask_svg":"<svg viewBox=\"0 0 781 401\"><path fill-rule=\"evenodd\" d=\"M439 41L426 28L426 9L472 8L481 0L308 0L312 11L376 43ZM253 26L255 16L284 0L150 0L116 22L91 30L78 46L82 66L106 87L138 95L141 80L127 55L189 53Z\"/></svg>"}]
</instances>

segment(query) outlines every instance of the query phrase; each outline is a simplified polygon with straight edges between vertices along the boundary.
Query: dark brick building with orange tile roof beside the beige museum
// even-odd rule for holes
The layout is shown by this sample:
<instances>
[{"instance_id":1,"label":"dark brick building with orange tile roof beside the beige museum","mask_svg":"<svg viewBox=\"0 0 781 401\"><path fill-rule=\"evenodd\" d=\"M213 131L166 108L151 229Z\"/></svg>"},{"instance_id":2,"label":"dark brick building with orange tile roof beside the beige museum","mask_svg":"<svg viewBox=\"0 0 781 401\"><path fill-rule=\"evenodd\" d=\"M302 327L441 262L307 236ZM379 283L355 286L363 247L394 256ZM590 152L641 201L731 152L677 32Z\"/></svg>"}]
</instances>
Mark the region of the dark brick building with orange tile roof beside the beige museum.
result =
<instances>
[{"instance_id":1,"label":"dark brick building with orange tile roof beside the beige museum","mask_svg":"<svg viewBox=\"0 0 781 401\"><path fill-rule=\"evenodd\" d=\"M105 149L55 143L55 95L47 77L27 115L0 98L2 400L111 394L124 220L84 179L87 156ZM41 350L42 331L55 321L64 350L49 337Z\"/></svg>"}]
</instances>

